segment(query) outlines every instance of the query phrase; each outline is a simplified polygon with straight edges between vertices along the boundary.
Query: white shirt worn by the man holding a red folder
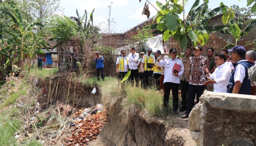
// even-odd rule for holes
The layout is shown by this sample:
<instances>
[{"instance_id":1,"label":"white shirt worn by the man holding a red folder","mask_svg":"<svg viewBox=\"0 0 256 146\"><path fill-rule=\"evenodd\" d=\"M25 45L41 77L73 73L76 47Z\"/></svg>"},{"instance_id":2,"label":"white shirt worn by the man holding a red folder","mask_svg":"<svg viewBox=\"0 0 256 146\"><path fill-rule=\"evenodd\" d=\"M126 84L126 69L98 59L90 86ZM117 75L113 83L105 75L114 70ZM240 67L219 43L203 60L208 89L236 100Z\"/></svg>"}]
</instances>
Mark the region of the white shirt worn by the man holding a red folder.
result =
<instances>
[{"instance_id":1,"label":"white shirt worn by the man holding a red folder","mask_svg":"<svg viewBox=\"0 0 256 146\"><path fill-rule=\"evenodd\" d=\"M178 77L173 75L173 66L174 64L177 63L178 65L181 65L180 72L178 72ZM180 59L165 59L163 61L157 61L157 66L159 67L165 67L165 77L163 79L163 83L165 82L173 82L180 84L180 76L184 72L184 66L183 63Z\"/></svg>"}]
</instances>

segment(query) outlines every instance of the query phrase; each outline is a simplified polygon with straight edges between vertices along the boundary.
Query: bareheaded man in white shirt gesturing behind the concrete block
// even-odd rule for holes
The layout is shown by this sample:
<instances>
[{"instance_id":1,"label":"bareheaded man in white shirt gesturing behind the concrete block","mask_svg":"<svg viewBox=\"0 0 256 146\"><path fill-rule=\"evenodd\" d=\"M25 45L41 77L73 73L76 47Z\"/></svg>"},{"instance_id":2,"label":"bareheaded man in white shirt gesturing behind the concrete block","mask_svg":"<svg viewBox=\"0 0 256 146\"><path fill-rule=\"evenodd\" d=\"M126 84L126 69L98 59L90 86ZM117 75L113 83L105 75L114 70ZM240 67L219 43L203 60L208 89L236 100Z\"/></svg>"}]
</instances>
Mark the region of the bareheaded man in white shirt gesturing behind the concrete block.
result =
<instances>
[{"instance_id":1,"label":"bareheaded man in white shirt gesturing behind the concrete block","mask_svg":"<svg viewBox=\"0 0 256 146\"><path fill-rule=\"evenodd\" d=\"M215 54L215 64L217 68L211 74L209 70L204 67L206 76L209 81L204 82L204 85L213 84L214 92L224 92L227 91L227 84L229 84L229 78L231 76L231 69L228 64L225 64L226 56L223 53Z\"/></svg>"}]
</instances>

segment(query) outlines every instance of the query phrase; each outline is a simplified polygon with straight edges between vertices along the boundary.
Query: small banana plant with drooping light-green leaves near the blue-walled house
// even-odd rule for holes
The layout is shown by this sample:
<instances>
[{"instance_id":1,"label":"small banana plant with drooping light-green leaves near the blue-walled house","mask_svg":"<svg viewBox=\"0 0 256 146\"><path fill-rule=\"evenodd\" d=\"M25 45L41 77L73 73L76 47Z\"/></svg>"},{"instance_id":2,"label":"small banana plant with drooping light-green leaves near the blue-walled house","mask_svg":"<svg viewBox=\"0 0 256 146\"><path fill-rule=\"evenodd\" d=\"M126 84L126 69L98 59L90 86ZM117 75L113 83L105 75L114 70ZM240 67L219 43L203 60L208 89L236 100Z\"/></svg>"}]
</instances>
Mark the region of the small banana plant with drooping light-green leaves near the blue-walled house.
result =
<instances>
[{"instance_id":1,"label":"small banana plant with drooping light-green leaves near the blue-walled house","mask_svg":"<svg viewBox=\"0 0 256 146\"><path fill-rule=\"evenodd\" d=\"M44 47L47 51L50 51L48 47L50 47L50 44L45 41L45 39L37 38L33 39L31 36L27 38L26 47L22 50L24 54L27 54L29 57L29 70L31 67L31 59L35 57L38 53L45 54L44 51L42 51L42 47Z\"/></svg>"}]
</instances>

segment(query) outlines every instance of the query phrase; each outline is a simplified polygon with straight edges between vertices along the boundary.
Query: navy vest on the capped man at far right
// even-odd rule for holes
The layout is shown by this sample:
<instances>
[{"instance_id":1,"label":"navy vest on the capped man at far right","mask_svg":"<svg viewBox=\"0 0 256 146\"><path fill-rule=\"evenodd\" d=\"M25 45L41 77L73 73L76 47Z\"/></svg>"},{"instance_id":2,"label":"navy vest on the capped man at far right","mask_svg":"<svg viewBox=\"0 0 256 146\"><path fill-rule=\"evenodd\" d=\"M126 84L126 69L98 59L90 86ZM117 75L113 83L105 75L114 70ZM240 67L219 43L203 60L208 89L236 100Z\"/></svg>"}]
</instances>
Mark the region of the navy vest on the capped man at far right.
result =
<instances>
[{"instance_id":1,"label":"navy vest on the capped man at far right","mask_svg":"<svg viewBox=\"0 0 256 146\"><path fill-rule=\"evenodd\" d=\"M254 64L252 62L249 62L246 60L241 61L238 64L241 64L242 66L244 66L244 69L245 69L245 77L244 77L244 80L242 82L242 85L241 85L241 88L240 88L238 94L251 95L251 81L248 76L248 69L251 68ZM227 93L233 92L233 89L235 86L234 74L236 72L237 65L236 65L235 69L233 70L231 77L229 79L229 84L227 85Z\"/></svg>"}]
</instances>

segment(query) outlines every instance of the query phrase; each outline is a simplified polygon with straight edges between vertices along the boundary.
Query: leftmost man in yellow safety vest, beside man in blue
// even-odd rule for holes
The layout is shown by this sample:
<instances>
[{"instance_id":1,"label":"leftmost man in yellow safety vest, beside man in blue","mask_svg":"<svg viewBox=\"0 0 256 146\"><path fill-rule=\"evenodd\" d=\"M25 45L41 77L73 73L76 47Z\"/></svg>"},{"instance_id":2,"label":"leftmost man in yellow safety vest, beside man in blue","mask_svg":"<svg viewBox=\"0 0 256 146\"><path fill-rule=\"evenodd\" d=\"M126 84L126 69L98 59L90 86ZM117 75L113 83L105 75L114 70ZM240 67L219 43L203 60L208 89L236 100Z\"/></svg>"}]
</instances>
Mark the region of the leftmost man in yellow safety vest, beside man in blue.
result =
<instances>
[{"instance_id":1,"label":"leftmost man in yellow safety vest, beside man in blue","mask_svg":"<svg viewBox=\"0 0 256 146\"><path fill-rule=\"evenodd\" d=\"M128 72L128 59L125 55L125 50L121 50L121 56L116 59L116 74L118 74L118 78L123 80L124 76Z\"/></svg>"}]
</instances>

